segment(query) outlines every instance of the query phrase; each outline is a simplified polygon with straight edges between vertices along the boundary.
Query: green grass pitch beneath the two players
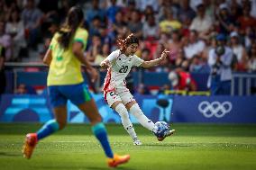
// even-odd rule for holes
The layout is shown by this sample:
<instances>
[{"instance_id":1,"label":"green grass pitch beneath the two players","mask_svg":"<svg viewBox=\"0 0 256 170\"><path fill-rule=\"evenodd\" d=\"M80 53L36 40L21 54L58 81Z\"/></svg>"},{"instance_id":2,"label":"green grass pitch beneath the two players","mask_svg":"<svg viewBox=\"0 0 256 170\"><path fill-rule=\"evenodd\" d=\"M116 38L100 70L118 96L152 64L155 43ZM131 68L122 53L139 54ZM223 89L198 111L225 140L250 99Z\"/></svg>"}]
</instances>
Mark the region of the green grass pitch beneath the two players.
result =
<instances>
[{"instance_id":1,"label":"green grass pitch beneath the two players","mask_svg":"<svg viewBox=\"0 0 256 170\"><path fill-rule=\"evenodd\" d=\"M24 135L39 124L0 124L1 170L109 169L105 155L87 124L69 124L65 130L41 140L30 160L21 150ZM174 124L174 136L158 142L140 125L135 130L142 146L133 143L122 125L106 125L114 152L130 154L117 169L256 169L256 125Z\"/></svg>"}]
</instances>

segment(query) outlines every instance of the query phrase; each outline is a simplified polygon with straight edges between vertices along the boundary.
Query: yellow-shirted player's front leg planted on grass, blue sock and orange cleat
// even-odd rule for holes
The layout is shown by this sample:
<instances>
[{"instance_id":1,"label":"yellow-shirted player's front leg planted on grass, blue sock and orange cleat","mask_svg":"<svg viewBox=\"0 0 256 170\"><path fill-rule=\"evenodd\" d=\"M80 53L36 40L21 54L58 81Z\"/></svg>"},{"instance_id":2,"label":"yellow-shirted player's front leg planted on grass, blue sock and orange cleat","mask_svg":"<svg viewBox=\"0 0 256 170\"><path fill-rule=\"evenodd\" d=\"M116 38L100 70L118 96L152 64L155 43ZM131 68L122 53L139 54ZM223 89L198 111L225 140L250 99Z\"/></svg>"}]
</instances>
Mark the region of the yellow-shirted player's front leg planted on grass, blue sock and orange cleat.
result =
<instances>
[{"instance_id":1,"label":"yellow-shirted player's front leg planted on grass, blue sock and orange cleat","mask_svg":"<svg viewBox=\"0 0 256 170\"><path fill-rule=\"evenodd\" d=\"M130 159L129 155L118 156L113 154L112 148L110 147L110 144L108 142L105 125L101 122L102 118L97 110L96 103L94 99L91 97L91 94L89 94L87 87L82 87L84 99L82 99L83 97L81 99L77 98L72 102L76 103L78 105L78 108L87 115L87 118L92 125L92 131L96 136L96 139L98 139L102 148L104 149L105 156L108 157L108 166L118 166L120 164L128 162Z\"/></svg>"}]
</instances>

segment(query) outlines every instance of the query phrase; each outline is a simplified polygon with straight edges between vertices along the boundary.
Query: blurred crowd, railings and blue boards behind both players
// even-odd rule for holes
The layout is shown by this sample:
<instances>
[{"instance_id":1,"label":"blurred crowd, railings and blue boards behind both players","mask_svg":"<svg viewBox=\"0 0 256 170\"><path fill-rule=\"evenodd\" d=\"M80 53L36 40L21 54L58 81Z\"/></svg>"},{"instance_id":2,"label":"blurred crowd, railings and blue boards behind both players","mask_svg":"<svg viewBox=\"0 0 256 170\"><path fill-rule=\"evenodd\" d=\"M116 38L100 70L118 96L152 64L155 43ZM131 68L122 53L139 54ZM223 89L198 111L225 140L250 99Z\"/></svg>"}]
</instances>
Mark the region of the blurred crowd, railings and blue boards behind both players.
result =
<instances>
[{"instance_id":1,"label":"blurred crowd, railings and blue boards behind both players","mask_svg":"<svg viewBox=\"0 0 256 170\"><path fill-rule=\"evenodd\" d=\"M132 32L144 60L171 51L159 67L136 67L127 77L152 121L256 122L253 0L0 0L0 121L53 117L41 60L72 5L84 9L85 56L100 74L89 87L105 122L121 121L103 99L98 65ZM69 103L69 121L87 118Z\"/></svg>"}]
</instances>

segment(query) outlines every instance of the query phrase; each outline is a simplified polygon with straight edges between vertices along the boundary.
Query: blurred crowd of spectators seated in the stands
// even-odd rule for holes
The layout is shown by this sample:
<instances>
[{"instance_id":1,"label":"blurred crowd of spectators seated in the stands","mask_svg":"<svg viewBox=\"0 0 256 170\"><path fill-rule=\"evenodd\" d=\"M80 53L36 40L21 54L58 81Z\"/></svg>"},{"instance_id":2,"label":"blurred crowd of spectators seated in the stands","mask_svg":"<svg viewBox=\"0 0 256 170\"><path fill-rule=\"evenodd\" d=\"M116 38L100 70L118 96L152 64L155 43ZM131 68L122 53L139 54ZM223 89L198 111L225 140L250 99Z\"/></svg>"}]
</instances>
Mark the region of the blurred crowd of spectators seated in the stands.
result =
<instances>
[{"instance_id":1,"label":"blurred crowd of spectators seated in the stands","mask_svg":"<svg viewBox=\"0 0 256 170\"><path fill-rule=\"evenodd\" d=\"M0 0L5 62L21 61L29 49L42 56L75 4L84 9L89 32L85 55L94 65L117 48L117 39L133 32L140 39L138 57L150 60L159 58L163 49L171 51L160 67L150 71L214 75L218 61L224 63L215 58L224 55L217 53L223 45L231 51L232 71L256 72L253 0ZM43 49L38 49L40 43Z\"/></svg>"}]
</instances>

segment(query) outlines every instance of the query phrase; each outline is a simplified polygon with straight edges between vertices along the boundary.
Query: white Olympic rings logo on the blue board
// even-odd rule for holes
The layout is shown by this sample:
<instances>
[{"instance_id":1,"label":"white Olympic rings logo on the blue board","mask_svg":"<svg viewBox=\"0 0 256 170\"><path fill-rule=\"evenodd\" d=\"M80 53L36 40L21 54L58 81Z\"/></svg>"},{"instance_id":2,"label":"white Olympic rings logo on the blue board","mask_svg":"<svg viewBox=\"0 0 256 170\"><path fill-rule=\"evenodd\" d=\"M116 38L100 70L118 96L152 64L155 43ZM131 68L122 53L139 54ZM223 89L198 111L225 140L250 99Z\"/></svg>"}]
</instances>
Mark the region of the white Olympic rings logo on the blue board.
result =
<instances>
[{"instance_id":1,"label":"white Olympic rings logo on the blue board","mask_svg":"<svg viewBox=\"0 0 256 170\"><path fill-rule=\"evenodd\" d=\"M232 107L232 103L227 101L224 103L217 101L209 103L207 101L203 101L199 103L198 111L203 113L206 118L211 118L213 116L216 118L222 118L226 113L231 112Z\"/></svg>"}]
</instances>

